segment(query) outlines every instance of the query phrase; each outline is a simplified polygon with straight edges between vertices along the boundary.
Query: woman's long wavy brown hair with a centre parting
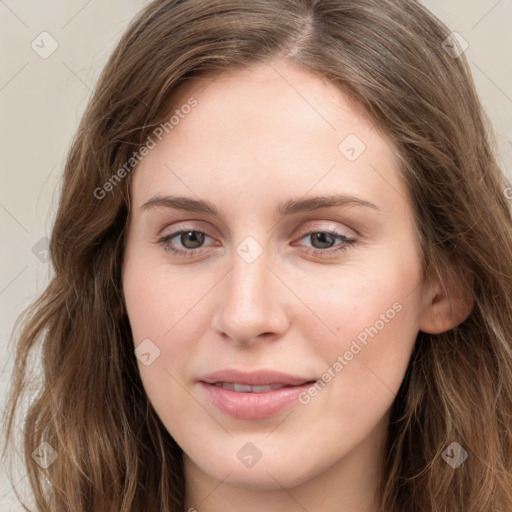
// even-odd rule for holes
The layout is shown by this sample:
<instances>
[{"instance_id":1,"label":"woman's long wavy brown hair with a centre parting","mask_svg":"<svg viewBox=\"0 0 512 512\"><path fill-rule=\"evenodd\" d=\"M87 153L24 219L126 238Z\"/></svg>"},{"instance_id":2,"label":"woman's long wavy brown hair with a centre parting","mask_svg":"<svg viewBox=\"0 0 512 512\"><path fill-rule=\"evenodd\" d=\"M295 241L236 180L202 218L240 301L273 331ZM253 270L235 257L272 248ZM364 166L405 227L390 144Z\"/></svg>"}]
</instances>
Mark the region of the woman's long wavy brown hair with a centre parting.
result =
<instances>
[{"instance_id":1,"label":"woman's long wavy brown hair with a centre parting","mask_svg":"<svg viewBox=\"0 0 512 512\"><path fill-rule=\"evenodd\" d=\"M465 55L443 49L449 34L414 0L155 0L133 19L67 157L51 281L17 324L4 453L40 350L20 424L38 511L183 511L182 450L144 392L122 293L133 173L97 191L168 119L178 84L276 59L336 84L390 136L425 276L473 298L455 328L417 335L380 510L512 510L512 212ZM42 442L58 453L47 469L31 457ZM452 442L468 453L457 469L442 457Z\"/></svg>"}]
</instances>

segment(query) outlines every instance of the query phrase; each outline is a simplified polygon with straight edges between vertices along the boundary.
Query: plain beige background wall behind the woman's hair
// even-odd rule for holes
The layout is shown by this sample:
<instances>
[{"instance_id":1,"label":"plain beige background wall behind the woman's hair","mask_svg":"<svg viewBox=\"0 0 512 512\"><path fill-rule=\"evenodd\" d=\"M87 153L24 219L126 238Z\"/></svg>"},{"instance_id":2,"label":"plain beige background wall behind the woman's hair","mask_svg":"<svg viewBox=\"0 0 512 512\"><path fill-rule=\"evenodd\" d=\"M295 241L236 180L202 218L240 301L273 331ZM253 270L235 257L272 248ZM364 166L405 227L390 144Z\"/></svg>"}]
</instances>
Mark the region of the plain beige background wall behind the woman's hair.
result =
<instances>
[{"instance_id":1,"label":"plain beige background wall behind the woman's hair","mask_svg":"<svg viewBox=\"0 0 512 512\"><path fill-rule=\"evenodd\" d=\"M207 1L207 0L205 0ZM49 276L45 237L56 189L80 116L106 58L142 0L0 0L1 188L0 392L13 361L19 312ZM469 43L466 54L512 179L512 0L426 0ZM58 48L43 59L31 47L48 32ZM45 37L39 52L51 49ZM53 43L55 44L55 43ZM3 398L2 398L3 402ZM2 414L3 414L2 406ZM0 466L0 510L21 511ZM20 469L16 481L26 483Z\"/></svg>"}]
</instances>

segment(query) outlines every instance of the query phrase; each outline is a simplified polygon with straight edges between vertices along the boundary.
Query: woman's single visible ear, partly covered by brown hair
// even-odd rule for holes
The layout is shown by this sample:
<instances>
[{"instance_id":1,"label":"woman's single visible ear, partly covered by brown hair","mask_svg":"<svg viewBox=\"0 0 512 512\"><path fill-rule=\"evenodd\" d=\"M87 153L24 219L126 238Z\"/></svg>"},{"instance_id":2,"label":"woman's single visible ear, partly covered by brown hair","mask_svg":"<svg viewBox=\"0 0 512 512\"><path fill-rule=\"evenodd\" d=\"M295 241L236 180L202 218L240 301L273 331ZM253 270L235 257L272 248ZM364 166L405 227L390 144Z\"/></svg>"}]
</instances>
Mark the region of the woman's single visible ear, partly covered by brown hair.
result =
<instances>
[{"instance_id":1,"label":"woman's single visible ear, partly covered by brown hair","mask_svg":"<svg viewBox=\"0 0 512 512\"><path fill-rule=\"evenodd\" d=\"M419 330L429 334L440 334L462 323L473 309L473 295L467 273L459 279L439 276L431 279L424 292L423 310L419 319Z\"/></svg>"}]
</instances>

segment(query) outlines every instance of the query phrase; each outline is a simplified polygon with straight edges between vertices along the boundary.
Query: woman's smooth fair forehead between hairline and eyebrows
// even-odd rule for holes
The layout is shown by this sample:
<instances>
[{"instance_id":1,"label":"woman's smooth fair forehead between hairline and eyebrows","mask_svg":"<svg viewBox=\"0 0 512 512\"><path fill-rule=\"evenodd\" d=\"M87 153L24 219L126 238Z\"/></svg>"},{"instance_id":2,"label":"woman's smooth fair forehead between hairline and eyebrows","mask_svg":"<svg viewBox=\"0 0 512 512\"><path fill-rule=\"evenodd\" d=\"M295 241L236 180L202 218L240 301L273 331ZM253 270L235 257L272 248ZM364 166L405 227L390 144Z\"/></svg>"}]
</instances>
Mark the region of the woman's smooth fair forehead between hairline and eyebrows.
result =
<instances>
[{"instance_id":1,"label":"woman's smooth fair forehead between hairline and eyebrows","mask_svg":"<svg viewBox=\"0 0 512 512\"><path fill-rule=\"evenodd\" d=\"M264 202L283 191L405 196L391 139L333 83L293 65L205 74L170 104L177 122L134 176L139 205L169 189L232 201L250 191Z\"/></svg>"}]
</instances>

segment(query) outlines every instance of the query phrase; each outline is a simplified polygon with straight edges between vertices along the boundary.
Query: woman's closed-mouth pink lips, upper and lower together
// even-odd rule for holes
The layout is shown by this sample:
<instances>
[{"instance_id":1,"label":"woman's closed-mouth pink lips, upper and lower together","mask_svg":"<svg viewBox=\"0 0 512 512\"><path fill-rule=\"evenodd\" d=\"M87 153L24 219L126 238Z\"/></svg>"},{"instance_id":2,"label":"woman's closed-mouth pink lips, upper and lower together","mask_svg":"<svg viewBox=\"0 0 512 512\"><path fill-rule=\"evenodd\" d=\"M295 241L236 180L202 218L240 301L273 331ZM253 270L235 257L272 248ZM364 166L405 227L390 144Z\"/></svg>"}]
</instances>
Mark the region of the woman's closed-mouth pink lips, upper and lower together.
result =
<instances>
[{"instance_id":1,"label":"woman's closed-mouth pink lips, upper and lower together","mask_svg":"<svg viewBox=\"0 0 512 512\"><path fill-rule=\"evenodd\" d=\"M296 403L300 393L307 391L315 380L273 370L245 373L228 369L202 377L199 384L208 401L221 412L239 419L259 420L274 416ZM215 386L216 382L251 386L282 384L286 387L261 393L237 392Z\"/></svg>"}]
</instances>

